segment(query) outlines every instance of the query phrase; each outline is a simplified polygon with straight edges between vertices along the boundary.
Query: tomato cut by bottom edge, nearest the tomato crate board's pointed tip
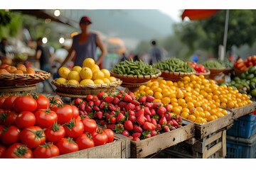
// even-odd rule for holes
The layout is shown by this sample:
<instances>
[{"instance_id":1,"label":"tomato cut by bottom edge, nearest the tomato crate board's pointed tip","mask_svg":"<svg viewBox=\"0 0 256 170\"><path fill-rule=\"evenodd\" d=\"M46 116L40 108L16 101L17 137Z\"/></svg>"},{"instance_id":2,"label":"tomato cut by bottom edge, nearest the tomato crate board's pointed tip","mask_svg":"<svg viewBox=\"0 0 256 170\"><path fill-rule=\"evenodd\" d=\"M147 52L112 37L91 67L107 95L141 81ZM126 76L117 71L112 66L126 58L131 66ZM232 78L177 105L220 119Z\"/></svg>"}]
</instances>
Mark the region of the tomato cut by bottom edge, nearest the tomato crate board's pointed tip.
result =
<instances>
[{"instance_id":1,"label":"tomato cut by bottom edge, nearest the tomato crate board's pointed tip","mask_svg":"<svg viewBox=\"0 0 256 170\"><path fill-rule=\"evenodd\" d=\"M39 145L39 147L33 150L34 158L50 158L57 157L58 155L60 155L60 150L53 143Z\"/></svg>"}]
</instances>

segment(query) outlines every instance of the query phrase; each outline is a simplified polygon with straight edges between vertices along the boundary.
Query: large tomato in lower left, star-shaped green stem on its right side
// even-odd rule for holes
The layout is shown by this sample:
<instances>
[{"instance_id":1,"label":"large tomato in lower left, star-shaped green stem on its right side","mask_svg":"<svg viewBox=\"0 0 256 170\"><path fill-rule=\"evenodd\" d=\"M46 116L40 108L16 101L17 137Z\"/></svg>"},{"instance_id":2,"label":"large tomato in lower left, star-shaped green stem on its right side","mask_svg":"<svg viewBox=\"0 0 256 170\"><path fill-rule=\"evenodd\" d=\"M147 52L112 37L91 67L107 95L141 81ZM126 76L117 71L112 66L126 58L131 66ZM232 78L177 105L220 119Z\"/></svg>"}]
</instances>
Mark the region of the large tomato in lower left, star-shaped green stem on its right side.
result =
<instances>
[{"instance_id":1,"label":"large tomato in lower left, star-shaped green stem on its right side","mask_svg":"<svg viewBox=\"0 0 256 170\"><path fill-rule=\"evenodd\" d=\"M34 149L46 142L46 134L42 128L38 126L29 126L21 131L21 143L28 145Z\"/></svg>"}]
</instances>

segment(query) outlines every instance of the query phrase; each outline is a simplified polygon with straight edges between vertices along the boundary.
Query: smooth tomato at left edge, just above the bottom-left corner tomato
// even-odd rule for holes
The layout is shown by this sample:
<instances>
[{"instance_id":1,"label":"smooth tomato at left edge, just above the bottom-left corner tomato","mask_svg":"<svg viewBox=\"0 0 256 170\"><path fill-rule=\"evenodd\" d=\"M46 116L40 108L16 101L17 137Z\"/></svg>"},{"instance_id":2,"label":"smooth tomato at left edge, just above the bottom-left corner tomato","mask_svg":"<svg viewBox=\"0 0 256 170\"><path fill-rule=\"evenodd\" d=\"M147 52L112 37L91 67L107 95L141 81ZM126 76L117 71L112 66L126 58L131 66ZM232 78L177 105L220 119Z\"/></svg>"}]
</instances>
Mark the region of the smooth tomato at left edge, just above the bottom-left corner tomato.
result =
<instances>
[{"instance_id":1,"label":"smooth tomato at left edge, just above the bottom-left corner tomato","mask_svg":"<svg viewBox=\"0 0 256 170\"><path fill-rule=\"evenodd\" d=\"M5 145L12 145L19 141L21 130L15 125L11 125L9 128L5 127L1 132L1 142Z\"/></svg>"}]
</instances>

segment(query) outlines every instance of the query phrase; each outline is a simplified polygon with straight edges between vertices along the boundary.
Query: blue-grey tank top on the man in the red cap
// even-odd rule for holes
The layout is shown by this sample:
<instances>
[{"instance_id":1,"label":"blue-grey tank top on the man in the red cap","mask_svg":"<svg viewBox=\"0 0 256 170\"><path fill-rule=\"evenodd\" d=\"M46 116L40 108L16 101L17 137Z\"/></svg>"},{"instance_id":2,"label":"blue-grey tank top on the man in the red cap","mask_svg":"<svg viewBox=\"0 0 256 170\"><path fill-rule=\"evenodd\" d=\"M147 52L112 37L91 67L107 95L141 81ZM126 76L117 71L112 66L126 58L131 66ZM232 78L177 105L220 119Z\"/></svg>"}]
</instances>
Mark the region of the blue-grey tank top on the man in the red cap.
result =
<instances>
[{"instance_id":1,"label":"blue-grey tank top on the man in the red cap","mask_svg":"<svg viewBox=\"0 0 256 170\"><path fill-rule=\"evenodd\" d=\"M74 66L82 67L82 62L87 58L95 60L97 57L97 45L96 45L97 34L90 33L89 38L83 43L78 43L78 35L73 37L74 49L75 49L75 62Z\"/></svg>"}]
</instances>

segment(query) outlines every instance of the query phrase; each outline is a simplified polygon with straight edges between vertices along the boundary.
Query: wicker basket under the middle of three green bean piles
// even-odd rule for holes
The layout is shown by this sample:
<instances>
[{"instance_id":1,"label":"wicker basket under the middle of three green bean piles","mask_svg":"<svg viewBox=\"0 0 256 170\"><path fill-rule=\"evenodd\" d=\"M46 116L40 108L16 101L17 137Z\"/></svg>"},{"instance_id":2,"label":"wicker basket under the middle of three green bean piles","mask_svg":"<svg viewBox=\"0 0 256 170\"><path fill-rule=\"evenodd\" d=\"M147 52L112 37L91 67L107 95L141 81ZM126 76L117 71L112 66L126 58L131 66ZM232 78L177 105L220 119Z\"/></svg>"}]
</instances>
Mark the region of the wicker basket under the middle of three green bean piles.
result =
<instances>
[{"instance_id":1,"label":"wicker basket under the middle of three green bean piles","mask_svg":"<svg viewBox=\"0 0 256 170\"><path fill-rule=\"evenodd\" d=\"M181 77L190 76L191 74L196 74L196 72L169 72L169 71L161 71L161 77L165 80L171 81L180 81Z\"/></svg>"}]
</instances>

